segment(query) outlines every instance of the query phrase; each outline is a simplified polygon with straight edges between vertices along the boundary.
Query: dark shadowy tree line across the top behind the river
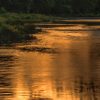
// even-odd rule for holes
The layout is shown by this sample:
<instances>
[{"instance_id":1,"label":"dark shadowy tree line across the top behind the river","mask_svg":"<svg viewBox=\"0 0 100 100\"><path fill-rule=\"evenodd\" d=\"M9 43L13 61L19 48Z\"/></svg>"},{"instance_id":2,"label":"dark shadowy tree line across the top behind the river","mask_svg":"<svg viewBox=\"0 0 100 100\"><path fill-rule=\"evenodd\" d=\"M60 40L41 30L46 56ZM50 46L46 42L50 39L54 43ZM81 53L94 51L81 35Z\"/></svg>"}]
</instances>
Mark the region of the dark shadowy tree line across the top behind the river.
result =
<instances>
[{"instance_id":1,"label":"dark shadowy tree line across the top behind the river","mask_svg":"<svg viewBox=\"0 0 100 100\"><path fill-rule=\"evenodd\" d=\"M0 0L0 9L60 16L99 15L100 0Z\"/></svg>"}]
</instances>

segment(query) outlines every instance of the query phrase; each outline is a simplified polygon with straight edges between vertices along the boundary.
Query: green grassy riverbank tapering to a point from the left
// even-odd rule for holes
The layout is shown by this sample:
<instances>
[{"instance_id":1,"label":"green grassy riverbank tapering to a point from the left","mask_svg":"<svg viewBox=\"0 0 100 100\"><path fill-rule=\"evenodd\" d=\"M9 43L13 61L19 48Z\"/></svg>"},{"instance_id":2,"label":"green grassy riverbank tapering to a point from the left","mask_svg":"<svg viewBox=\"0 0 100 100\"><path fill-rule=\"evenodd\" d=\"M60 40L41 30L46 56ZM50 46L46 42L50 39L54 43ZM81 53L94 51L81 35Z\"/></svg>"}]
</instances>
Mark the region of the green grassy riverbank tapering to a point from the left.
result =
<instances>
[{"instance_id":1,"label":"green grassy riverbank tapering to a point from the left","mask_svg":"<svg viewBox=\"0 0 100 100\"><path fill-rule=\"evenodd\" d=\"M0 44L35 39L32 34L41 31L34 23L52 22L56 18L40 14L0 14ZM32 23L32 24L31 24Z\"/></svg>"}]
</instances>

